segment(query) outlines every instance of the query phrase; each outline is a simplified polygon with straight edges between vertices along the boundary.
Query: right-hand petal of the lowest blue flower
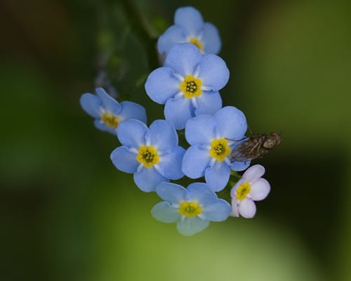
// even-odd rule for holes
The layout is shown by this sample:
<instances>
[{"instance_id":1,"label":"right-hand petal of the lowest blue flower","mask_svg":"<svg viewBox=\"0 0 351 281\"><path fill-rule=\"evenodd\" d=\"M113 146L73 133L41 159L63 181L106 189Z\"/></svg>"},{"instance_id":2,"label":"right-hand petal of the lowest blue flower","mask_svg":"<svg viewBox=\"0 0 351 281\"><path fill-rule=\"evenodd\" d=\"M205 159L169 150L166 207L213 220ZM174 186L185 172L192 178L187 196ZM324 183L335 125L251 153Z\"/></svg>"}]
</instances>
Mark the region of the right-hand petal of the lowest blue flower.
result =
<instances>
[{"instance_id":1,"label":"right-hand petal of the lowest blue flower","mask_svg":"<svg viewBox=\"0 0 351 281\"><path fill-rule=\"evenodd\" d=\"M232 207L227 201L218 199L216 202L204 206L199 216L206 221L225 221L231 211Z\"/></svg>"}]
</instances>

